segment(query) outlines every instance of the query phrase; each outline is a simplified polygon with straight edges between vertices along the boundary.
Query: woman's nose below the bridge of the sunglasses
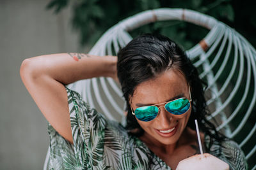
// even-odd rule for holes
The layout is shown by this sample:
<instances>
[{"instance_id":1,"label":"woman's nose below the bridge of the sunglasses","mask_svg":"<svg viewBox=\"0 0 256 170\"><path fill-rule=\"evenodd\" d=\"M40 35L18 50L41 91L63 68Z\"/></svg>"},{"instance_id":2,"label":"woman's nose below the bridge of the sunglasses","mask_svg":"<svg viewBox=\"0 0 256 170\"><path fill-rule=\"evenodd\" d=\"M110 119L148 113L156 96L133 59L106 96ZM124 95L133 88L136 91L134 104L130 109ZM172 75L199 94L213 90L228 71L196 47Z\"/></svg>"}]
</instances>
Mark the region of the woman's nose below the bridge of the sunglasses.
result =
<instances>
[{"instance_id":1,"label":"woman's nose below the bridge of the sunglasses","mask_svg":"<svg viewBox=\"0 0 256 170\"><path fill-rule=\"evenodd\" d=\"M164 106L161 106L159 107L157 120L159 125L161 125L161 128L169 128L172 121L172 115L164 109Z\"/></svg>"}]
</instances>

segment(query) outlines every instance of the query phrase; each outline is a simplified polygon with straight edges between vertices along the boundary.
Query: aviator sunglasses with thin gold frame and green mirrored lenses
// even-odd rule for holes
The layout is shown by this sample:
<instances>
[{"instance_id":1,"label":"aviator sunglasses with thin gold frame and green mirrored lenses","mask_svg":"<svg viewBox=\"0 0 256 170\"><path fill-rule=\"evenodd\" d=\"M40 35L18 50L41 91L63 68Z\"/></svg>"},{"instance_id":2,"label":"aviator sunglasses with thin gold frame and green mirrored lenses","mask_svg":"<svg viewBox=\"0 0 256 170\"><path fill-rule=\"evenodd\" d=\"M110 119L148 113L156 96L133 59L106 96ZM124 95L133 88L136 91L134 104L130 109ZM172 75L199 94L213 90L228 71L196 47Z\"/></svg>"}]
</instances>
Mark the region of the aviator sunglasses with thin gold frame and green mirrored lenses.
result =
<instances>
[{"instance_id":1,"label":"aviator sunglasses with thin gold frame and green mirrored lenses","mask_svg":"<svg viewBox=\"0 0 256 170\"><path fill-rule=\"evenodd\" d=\"M132 115L135 115L138 120L141 120L143 122L149 122L151 120L154 120L154 118L157 117L159 113L159 108L164 108L169 113L172 113L172 115L184 115L188 112L189 108L191 107L191 94L190 94L190 87L189 87L189 98L181 97L179 99L175 99L173 101L168 101L165 103L159 103L164 104L164 106L157 106L159 104L154 104L150 106L142 106L139 108L136 108L136 110L132 110Z\"/></svg>"}]
</instances>

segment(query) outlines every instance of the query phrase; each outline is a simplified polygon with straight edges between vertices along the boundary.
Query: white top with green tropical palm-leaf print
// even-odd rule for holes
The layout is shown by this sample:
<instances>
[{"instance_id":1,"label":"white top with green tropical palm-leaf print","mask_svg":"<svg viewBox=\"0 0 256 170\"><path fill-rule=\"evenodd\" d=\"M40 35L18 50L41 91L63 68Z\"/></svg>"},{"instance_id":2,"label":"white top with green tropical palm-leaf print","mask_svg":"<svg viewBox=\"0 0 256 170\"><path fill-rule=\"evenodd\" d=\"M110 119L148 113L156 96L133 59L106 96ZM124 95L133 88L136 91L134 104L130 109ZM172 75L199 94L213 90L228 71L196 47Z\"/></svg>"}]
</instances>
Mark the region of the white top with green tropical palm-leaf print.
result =
<instances>
[{"instance_id":1,"label":"white top with green tropical palm-leaf print","mask_svg":"<svg viewBox=\"0 0 256 170\"><path fill-rule=\"evenodd\" d=\"M74 145L48 124L47 169L171 169L140 139L127 134L121 124L107 120L77 92L66 89ZM205 138L205 145L209 145L209 138ZM227 162L230 169L246 169L244 154L237 143L227 141L223 146L220 153L220 146L213 144L210 153Z\"/></svg>"}]
</instances>

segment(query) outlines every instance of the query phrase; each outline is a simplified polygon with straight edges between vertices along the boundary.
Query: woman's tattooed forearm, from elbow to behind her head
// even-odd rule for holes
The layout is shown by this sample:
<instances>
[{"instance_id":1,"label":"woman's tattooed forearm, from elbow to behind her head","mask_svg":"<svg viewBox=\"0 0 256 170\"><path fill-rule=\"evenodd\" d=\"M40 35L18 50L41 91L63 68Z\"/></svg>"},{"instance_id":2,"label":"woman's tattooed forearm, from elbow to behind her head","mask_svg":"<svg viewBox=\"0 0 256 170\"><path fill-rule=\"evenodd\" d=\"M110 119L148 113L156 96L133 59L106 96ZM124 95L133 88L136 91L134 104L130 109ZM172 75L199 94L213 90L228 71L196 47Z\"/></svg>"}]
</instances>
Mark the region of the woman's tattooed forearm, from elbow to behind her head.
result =
<instances>
[{"instance_id":1,"label":"woman's tattooed forearm, from elbow to behind her head","mask_svg":"<svg viewBox=\"0 0 256 170\"><path fill-rule=\"evenodd\" d=\"M21 69L27 69L32 78L47 75L67 85L86 78L113 76L116 69L116 57L99 57L84 53L56 53L26 59Z\"/></svg>"}]
</instances>

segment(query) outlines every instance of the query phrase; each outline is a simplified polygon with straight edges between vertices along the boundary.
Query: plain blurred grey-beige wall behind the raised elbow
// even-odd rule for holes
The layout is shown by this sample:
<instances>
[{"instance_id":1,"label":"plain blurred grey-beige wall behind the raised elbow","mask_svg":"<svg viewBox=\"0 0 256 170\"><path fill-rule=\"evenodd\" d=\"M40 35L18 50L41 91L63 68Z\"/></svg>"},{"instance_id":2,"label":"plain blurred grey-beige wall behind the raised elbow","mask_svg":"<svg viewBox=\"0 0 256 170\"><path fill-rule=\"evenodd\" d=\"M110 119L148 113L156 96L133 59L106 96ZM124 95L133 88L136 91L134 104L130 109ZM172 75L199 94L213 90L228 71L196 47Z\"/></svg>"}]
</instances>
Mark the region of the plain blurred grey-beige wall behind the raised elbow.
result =
<instances>
[{"instance_id":1,"label":"plain blurred grey-beige wall behind the raised elbow","mask_svg":"<svg viewBox=\"0 0 256 170\"><path fill-rule=\"evenodd\" d=\"M42 169L47 153L47 122L20 80L22 60L83 52L68 25L70 10L56 16L47 3L0 0L0 169Z\"/></svg>"}]
</instances>

